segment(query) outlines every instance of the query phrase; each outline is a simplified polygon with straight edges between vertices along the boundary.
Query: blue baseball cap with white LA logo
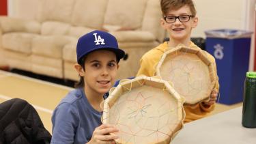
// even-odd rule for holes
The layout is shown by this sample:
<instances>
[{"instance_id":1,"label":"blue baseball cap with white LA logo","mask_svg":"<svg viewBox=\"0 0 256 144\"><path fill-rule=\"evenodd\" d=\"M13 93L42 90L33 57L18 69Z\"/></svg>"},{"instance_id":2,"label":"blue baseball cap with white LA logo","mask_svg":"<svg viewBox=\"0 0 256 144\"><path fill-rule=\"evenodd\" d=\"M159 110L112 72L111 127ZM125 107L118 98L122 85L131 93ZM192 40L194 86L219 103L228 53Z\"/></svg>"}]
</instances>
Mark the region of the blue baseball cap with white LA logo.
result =
<instances>
[{"instance_id":1,"label":"blue baseball cap with white LA logo","mask_svg":"<svg viewBox=\"0 0 256 144\"><path fill-rule=\"evenodd\" d=\"M88 53L97 50L113 51L119 61L124 57L124 51L119 49L117 39L105 31L91 31L79 38L76 45L76 58L79 61Z\"/></svg>"}]
</instances>

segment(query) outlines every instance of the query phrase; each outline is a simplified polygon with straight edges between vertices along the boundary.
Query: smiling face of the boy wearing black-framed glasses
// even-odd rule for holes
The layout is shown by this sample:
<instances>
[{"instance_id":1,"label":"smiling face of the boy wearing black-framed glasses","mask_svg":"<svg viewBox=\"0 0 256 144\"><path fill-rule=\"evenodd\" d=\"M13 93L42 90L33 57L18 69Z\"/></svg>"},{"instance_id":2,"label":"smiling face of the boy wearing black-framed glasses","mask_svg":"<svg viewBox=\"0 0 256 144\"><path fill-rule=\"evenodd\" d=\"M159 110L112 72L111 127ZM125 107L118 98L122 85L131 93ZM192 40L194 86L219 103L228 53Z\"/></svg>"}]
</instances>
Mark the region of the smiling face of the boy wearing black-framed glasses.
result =
<instances>
[{"instance_id":1,"label":"smiling face of the boy wearing black-framed glasses","mask_svg":"<svg viewBox=\"0 0 256 144\"><path fill-rule=\"evenodd\" d=\"M193 15L188 5L184 5L177 10L169 10L165 16ZM161 25L169 33L170 42L187 44L190 42L190 35L193 28L197 26L198 18L190 17L188 22L180 22L177 18L174 23L167 23L164 18L161 19Z\"/></svg>"}]
</instances>

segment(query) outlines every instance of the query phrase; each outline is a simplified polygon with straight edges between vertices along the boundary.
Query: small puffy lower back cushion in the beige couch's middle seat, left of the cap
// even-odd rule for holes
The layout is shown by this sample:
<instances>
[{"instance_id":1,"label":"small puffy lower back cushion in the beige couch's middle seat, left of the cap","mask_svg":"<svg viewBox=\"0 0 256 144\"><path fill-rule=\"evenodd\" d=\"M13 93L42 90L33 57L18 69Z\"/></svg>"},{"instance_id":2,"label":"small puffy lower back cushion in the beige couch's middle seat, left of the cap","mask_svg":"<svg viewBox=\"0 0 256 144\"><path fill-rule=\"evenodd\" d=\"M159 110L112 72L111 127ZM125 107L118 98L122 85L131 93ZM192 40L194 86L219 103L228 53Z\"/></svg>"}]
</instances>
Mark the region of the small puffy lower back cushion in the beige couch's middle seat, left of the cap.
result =
<instances>
[{"instance_id":1,"label":"small puffy lower back cushion in the beige couch's middle seat, left of the cap","mask_svg":"<svg viewBox=\"0 0 256 144\"><path fill-rule=\"evenodd\" d=\"M68 33L70 25L57 21L46 21L42 23L42 35L65 35Z\"/></svg>"}]
</instances>

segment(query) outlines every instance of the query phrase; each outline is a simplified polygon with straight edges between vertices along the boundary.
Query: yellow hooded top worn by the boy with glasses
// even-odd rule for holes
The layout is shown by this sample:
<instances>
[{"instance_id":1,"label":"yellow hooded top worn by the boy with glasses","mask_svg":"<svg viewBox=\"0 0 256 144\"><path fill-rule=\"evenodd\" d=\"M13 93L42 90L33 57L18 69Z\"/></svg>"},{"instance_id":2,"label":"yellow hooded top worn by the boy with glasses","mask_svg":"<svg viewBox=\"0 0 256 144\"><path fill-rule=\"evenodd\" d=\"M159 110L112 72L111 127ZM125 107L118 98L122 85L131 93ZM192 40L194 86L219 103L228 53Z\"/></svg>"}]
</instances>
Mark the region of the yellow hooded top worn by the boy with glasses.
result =
<instances>
[{"instance_id":1,"label":"yellow hooded top worn by the boy with glasses","mask_svg":"<svg viewBox=\"0 0 256 144\"><path fill-rule=\"evenodd\" d=\"M153 48L152 50L145 53L145 55L143 55L143 57L140 60L141 67L139 69L139 72L137 73L137 76L141 74L145 76L154 76L154 74L156 73L156 65L160 61L162 54L165 53L167 48L169 48L168 43L164 42L159 46L157 46L156 48ZM195 45L193 42L190 42L190 48L198 49L199 47ZM216 73L215 59L214 57L212 57L212 55L210 55L206 51L204 52L207 54L210 61L214 63L214 68L215 68L214 73L216 74L216 78L217 78L216 85L214 88L218 90L219 84L218 84L218 76ZM214 104L212 106L203 106L202 103L199 103L193 106L184 106L184 109L186 112L186 117L184 122L186 123L196 119L200 119L208 115L208 113L214 110Z\"/></svg>"}]
</instances>

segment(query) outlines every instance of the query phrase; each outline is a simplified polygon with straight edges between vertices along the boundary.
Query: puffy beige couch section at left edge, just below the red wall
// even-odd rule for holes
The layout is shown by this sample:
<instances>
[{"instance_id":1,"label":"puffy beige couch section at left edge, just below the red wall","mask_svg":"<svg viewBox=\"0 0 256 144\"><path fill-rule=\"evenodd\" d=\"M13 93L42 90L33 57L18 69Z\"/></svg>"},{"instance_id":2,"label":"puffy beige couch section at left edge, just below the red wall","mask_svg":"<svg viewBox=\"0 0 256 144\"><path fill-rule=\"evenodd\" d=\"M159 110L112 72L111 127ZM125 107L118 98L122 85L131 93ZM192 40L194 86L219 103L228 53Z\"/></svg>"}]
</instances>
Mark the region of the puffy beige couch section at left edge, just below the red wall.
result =
<instances>
[{"instance_id":1,"label":"puffy beige couch section at left edge, just below the red wall","mask_svg":"<svg viewBox=\"0 0 256 144\"><path fill-rule=\"evenodd\" d=\"M0 16L0 27L2 33L12 31L23 31L29 33L40 33L41 24L35 20L26 20L21 18L11 18Z\"/></svg>"}]
</instances>

